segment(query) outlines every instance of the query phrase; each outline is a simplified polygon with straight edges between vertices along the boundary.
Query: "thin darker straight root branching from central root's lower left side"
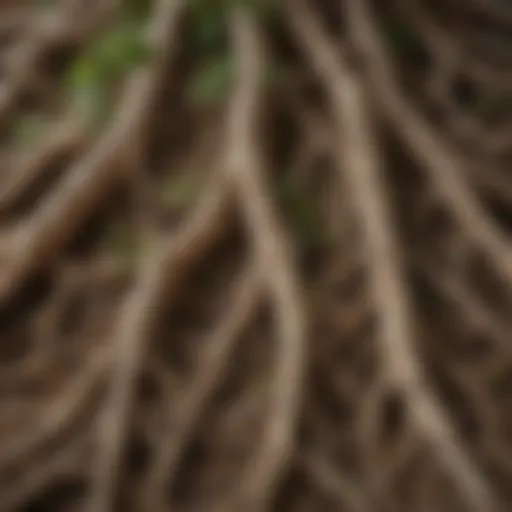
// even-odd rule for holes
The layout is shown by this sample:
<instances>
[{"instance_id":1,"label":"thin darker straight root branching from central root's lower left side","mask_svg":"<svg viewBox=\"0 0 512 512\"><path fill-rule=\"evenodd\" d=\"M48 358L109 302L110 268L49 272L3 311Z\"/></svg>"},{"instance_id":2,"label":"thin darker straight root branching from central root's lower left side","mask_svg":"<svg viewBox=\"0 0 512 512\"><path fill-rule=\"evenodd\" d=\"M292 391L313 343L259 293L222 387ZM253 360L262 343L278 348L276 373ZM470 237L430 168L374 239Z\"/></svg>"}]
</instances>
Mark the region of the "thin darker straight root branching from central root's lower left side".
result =
<instances>
[{"instance_id":1,"label":"thin darker straight root branching from central root's lower left side","mask_svg":"<svg viewBox=\"0 0 512 512\"><path fill-rule=\"evenodd\" d=\"M165 509L166 490L173 483L180 458L189 445L201 413L225 376L236 342L253 319L260 296L258 268L246 269L235 286L225 318L205 342L205 352L199 357L190 387L183 392L177 404L167 404L176 419L163 434L156 461L147 475L146 510Z\"/></svg>"}]
</instances>

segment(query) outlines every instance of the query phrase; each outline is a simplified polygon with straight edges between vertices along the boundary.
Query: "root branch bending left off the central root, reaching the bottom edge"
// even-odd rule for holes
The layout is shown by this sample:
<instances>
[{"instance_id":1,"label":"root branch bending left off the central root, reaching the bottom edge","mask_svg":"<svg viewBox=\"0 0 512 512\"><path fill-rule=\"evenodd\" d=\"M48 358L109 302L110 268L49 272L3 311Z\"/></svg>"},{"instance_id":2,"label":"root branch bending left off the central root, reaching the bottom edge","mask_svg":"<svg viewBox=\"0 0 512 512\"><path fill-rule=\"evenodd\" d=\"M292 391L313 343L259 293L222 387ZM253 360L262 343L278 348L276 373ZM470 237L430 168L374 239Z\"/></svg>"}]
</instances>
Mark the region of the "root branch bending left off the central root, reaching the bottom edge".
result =
<instances>
[{"instance_id":1,"label":"root branch bending left off the central root, reaching the bottom edge","mask_svg":"<svg viewBox=\"0 0 512 512\"><path fill-rule=\"evenodd\" d=\"M111 510L126 440L134 386L146 344L161 311L197 261L228 227L229 188L215 183L183 230L143 261L138 283L121 308L114 333L116 361L108 399L99 423L99 451L89 510Z\"/></svg>"}]
</instances>

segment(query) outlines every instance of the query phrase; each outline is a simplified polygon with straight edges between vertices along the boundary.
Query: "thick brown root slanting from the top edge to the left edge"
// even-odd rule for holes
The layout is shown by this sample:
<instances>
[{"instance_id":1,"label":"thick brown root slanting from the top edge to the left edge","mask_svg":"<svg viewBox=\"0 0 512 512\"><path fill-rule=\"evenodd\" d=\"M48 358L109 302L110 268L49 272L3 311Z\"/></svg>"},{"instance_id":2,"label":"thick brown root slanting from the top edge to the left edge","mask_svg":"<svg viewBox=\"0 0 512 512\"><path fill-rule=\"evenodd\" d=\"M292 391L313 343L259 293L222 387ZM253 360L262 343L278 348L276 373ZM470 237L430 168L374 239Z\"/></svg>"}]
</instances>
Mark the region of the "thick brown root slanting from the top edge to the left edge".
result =
<instances>
[{"instance_id":1,"label":"thick brown root slanting from the top edge to the left edge","mask_svg":"<svg viewBox=\"0 0 512 512\"><path fill-rule=\"evenodd\" d=\"M183 9L181 0L158 3L149 27L152 62L130 77L120 101L119 116L109 131L27 221L23 243L10 252L10 261L1 269L0 305L9 300L27 277L49 264L94 208L120 181L127 179L127 160L134 141L144 137L142 130L146 128L149 107L176 46Z\"/></svg>"}]
</instances>

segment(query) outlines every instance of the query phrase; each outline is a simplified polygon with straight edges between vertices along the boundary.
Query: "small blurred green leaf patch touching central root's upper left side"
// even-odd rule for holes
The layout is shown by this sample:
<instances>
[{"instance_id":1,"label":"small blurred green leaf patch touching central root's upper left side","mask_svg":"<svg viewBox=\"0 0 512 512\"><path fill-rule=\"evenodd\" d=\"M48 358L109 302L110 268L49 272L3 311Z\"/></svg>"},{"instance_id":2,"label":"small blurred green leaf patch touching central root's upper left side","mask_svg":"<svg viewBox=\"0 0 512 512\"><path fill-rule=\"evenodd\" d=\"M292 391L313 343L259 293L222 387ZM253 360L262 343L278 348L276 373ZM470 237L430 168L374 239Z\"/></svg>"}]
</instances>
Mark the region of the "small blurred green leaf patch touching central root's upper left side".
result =
<instances>
[{"instance_id":1,"label":"small blurred green leaf patch touching central root's upper left side","mask_svg":"<svg viewBox=\"0 0 512 512\"><path fill-rule=\"evenodd\" d=\"M189 97L195 104L215 103L230 91L233 65L229 57L217 57L204 65L193 77Z\"/></svg>"}]
</instances>

